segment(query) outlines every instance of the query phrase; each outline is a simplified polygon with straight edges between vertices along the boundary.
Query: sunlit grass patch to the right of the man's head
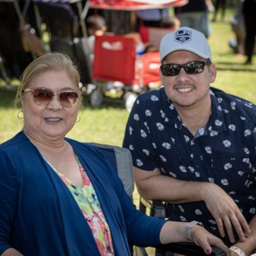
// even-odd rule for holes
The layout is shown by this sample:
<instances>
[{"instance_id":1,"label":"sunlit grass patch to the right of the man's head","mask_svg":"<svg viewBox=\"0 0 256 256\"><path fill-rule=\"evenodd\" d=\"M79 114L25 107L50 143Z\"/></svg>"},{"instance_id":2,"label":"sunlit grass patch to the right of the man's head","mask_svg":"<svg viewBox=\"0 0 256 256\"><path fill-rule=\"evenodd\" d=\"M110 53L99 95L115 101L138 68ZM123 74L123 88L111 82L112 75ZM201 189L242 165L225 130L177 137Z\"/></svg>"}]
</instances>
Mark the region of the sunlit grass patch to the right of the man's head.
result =
<instances>
[{"instance_id":1,"label":"sunlit grass patch to the right of the man's head","mask_svg":"<svg viewBox=\"0 0 256 256\"><path fill-rule=\"evenodd\" d=\"M235 57L228 45L229 39L234 37L228 21L212 23L211 26L213 33L209 38L209 44L218 70L213 86L255 104L256 65L244 65L245 57Z\"/></svg>"}]
</instances>

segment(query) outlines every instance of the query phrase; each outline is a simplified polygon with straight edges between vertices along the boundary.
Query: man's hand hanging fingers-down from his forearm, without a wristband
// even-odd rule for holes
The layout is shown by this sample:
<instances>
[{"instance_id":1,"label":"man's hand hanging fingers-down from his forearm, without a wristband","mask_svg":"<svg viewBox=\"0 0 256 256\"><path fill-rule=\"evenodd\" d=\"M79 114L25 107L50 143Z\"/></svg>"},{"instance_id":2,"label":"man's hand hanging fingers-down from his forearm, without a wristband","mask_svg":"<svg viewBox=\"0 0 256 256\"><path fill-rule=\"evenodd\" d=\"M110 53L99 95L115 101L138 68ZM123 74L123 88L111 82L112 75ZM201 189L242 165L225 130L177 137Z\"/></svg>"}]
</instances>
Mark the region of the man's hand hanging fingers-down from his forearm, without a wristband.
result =
<instances>
[{"instance_id":1,"label":"man's hand hanging fingers-down from his forearm, without a wristband","mask_svg":"<svg viewBox=\"0 0 256 256\"><path fill-rule=\"evenodd\" d=\"M223 189L213 183L204 185L201 196L218 225L221 237L225 237L225 226L230 242L235 243L232 228L234 227L240 241L244 242L244 232L249 234L250 228L234 200Z\"/></svg>"}]
</instances>

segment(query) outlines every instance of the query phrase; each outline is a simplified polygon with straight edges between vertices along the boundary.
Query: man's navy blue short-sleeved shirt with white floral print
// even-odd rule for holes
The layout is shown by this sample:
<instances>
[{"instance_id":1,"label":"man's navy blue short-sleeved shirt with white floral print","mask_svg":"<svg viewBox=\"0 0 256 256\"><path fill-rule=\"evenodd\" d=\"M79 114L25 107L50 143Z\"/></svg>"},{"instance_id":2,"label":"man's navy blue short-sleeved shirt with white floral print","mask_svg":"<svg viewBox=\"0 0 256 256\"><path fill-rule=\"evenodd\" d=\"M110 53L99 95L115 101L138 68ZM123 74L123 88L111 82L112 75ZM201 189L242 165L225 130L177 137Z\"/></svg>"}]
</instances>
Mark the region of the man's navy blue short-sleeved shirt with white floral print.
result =
<instances>
[{"instance_id":1,"label":"man's navy blue short-sleeved shirt with white floral print","mask_svg":"<svg viewBox=\"0 0 256 256\"><path fill-rule=\"evenodd\" d=\"M164 88L142 93L130 113L123 146L137 168L219 185L250 221L256 213L256 106L212 87L210 96L208 124L193 136ZM198 220L217 229L203 201L170 207L173 220Z\"/></svg>"}]
</instances>

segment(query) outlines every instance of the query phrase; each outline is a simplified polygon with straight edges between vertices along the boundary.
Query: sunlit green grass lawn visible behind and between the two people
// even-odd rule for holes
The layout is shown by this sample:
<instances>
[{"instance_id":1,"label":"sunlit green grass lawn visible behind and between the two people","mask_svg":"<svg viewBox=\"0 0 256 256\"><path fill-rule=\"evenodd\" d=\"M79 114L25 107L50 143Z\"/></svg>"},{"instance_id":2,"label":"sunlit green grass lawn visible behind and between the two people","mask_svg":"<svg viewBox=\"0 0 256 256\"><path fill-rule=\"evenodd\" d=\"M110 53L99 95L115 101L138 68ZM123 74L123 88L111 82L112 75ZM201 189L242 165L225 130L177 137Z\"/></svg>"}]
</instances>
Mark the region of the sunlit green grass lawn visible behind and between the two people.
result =
<instances>
[{"instance_id":1,"label":"sunlit green grass lawn visible behind and between the two people","mask_svg":"<svg viewBox=\"0 0 256 256\"><path fill-rule=\"evenodd\" d=\"M228 13L229 17L231 12ZM245 66L245 57L235 58L228 46L233 37L228 18L226 22L211 23L213 32L209 38L213 60L218 70L214 87L244 97L256 104L256 57L254 65ZM22 120L17 118L19 109L13 108L14 91L8 91L0 82L0 144L22 129ZM92 109L85 101L78 122L69 137L79 141L99 142L121 146L124 137L128 113L119 104L103 104L99 109ZM139 196L134 193L135 203Z\"/></svg>"}]
</instances>

